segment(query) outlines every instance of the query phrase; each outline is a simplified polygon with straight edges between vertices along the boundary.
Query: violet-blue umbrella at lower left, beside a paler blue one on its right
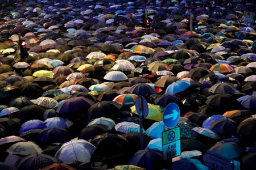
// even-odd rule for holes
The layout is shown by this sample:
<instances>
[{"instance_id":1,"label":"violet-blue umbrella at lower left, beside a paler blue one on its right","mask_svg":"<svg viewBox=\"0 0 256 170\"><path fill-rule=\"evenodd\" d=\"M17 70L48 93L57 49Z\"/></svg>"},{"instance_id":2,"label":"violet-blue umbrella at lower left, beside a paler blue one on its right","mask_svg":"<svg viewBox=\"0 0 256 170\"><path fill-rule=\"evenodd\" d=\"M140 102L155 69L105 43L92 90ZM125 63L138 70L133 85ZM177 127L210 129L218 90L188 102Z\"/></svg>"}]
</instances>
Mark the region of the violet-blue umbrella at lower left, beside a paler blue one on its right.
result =
<instances>
[{"instance_id":1,"label":"violet-blue umbrella at lower left, beside a paler blue one on its right","mask_svg":"<svg viewBox=\"0 0 256 170\"><path fill-rule=\"evenodd\" d=\"M22 126L19 129L19 133L21 134L25 131L32 130L32 129L44 129L44 128L46 128L46 124L44 124L43 121L36 120L36 119L29 120L22 124Z\"/></svg>"}]
</instances>

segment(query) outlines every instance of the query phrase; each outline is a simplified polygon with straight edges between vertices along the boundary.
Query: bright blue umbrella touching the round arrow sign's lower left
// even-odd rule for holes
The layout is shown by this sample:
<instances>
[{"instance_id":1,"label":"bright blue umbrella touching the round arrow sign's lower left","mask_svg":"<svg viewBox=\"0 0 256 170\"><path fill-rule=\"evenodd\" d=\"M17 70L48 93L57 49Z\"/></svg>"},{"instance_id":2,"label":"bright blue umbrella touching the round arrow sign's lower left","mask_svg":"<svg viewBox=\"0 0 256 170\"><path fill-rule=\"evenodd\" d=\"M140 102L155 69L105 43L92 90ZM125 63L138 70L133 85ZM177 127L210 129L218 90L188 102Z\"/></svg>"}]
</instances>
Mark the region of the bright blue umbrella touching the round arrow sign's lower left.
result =
<instances>
[{"instance_id":1,"label":"bright blue umbrella touching the round arrow sign's lower left","mask_svg":"<svg viewBox=\"0 0 256 170\"><path fill-rule=\"evenodd\" d=\"M152 139L162 138L162 132L164 131L163 121L154 122L147 130L146 134Z\"/></svg>"}]
</instances>

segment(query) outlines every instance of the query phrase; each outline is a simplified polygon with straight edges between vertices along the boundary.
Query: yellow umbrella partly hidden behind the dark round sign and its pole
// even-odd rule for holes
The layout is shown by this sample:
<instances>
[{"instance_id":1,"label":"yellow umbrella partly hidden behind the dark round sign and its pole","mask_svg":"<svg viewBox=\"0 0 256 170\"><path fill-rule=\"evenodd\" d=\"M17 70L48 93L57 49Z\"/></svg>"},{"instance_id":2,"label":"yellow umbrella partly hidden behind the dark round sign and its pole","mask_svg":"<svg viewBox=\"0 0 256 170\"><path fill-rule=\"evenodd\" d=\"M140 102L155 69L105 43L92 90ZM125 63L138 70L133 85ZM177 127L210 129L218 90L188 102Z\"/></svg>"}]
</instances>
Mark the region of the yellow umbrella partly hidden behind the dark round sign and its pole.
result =
<instances>
[{"instance_id":1,"label":"yellow umbrella partly hidden behind the dark round sign and its pole","mask_svg":"<svg viewBox=\"0 0 256 170\"><path fill-rule=\"evenodd\" d=\"M162 121L164 107L161 107L160 105L154 105L151 103L148 103L147 105L148 105L148 115L146 119ZM135 105L131 107L131 112L138 115Z\"/></svg>"}]
</instances>

